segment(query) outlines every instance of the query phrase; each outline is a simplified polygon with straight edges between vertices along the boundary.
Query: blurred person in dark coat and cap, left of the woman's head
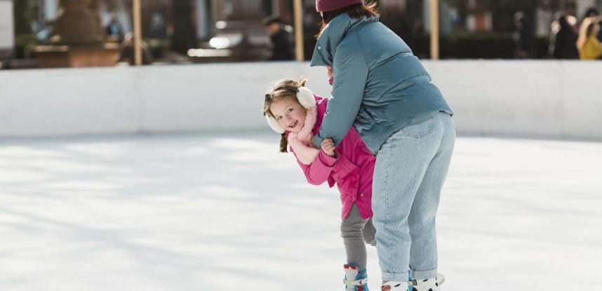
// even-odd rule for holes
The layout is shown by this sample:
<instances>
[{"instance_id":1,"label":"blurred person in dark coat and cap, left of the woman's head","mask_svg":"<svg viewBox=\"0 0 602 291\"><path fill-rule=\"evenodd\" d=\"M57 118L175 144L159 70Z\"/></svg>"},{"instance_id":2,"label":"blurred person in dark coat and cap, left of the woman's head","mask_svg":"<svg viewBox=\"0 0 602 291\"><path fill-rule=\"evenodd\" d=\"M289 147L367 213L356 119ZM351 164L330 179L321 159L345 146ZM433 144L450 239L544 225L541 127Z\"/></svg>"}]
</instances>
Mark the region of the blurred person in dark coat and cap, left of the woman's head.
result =
<instances>
[{"instance_id":1,"label":"blurred person in dark coat and cap, left of the woman's head","mask_svg":"<svg viewBox=\"0 0 602 291\"><path fill-rule=\"evenodd\" d=\"M295 60L295 41L290 33L292 29L276 16L266 18L264 25L272 41L267 60Z\"/></svg>"}]
</instances>

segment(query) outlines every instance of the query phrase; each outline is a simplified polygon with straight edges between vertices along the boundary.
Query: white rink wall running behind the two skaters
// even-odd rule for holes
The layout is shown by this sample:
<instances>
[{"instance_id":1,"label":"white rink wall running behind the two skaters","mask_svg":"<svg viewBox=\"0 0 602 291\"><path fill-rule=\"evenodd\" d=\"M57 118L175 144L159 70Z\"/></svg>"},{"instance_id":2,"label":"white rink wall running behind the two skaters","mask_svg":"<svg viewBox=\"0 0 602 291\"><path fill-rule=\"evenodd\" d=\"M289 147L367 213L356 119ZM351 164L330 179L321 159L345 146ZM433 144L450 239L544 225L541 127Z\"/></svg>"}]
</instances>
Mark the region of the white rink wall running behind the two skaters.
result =
<instances>
[{"instance_id":1,"label":"white rink wall running behind the two skaters","mask_svg":"<svg viewBox=\"0 0 602 291\"><path fill-rule=\"evenodd\" d=\"M424 65L460 133L602 138L602 62ZM0 137L267 129L263 93L300 76L329 95L307 62L0 71Z\"/></svg>"}]
</instances>

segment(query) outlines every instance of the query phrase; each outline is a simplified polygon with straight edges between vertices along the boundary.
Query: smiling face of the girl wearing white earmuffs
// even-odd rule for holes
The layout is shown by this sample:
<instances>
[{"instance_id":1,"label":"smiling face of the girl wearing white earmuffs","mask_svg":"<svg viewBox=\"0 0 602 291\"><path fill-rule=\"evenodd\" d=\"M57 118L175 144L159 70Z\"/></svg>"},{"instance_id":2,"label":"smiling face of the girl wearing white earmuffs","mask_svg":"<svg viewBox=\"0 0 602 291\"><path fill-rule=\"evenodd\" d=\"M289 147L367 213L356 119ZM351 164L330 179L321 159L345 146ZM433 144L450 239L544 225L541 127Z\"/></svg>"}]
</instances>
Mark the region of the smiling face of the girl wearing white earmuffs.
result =
<instances>
[{"instance_id":1,"label":"smiling face of the girl wearing white earmuffs","mask_svg":"<svg viewBox=\"0 0 602 291\"><path fill-rule=\"evenodd\" d=\"M269 111L272 111L280 126L291 133L299 133L305 125L307 109L292 97L272 102L269 105Z\"/></svg>"}]
</instances>

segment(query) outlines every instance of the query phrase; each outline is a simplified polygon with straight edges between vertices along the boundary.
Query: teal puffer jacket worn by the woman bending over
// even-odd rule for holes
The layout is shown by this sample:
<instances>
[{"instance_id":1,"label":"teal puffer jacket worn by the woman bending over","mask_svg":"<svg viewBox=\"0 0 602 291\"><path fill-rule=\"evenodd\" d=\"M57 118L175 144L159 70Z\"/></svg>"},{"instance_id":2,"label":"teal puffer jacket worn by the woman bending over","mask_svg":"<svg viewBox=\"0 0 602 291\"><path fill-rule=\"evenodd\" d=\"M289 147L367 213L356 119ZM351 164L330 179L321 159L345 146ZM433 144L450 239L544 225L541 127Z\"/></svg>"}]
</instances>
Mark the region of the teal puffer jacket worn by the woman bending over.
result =
<instances>
[{"instance_id":1,"label":"teal puffer jacket worn by the woman bending over","mask_svg":"<svg viewBox=\"0 0 602 291\"><path fill-rule=\"evenodd\" d=\"M319 36L312 67L330 66L331 100L316 147L325 138L338 144L351 126L373 154L387 137L439 111L453 114L410 47L373 18L330 20Z\"/></svg>"}]
</instances>

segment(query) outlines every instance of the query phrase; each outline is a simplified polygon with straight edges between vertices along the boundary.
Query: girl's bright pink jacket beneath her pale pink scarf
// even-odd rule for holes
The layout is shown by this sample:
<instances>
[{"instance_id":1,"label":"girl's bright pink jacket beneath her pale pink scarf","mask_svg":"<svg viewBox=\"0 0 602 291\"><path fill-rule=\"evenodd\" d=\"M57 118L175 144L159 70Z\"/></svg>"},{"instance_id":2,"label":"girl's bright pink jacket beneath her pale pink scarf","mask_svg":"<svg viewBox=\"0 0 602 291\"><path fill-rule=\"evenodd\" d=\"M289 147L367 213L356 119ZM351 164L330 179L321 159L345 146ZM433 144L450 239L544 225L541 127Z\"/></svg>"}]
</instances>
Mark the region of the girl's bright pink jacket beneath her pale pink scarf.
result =
<instances>
[{"instance_id":1,"label":"girl's bright pink jacket beneath her pale pink scarf","mask_svg":"<svg viewBox=\"0 0 602 291\"><path fill-rule=\"evenodd\" d=\"M314 95L314 97L316 97L318 115L313 130L316 135L326 112L328 99L318 95ZM292 148L290 148L290 152L293 152ZM364 219L372 217L372 176L376 158L370 154L370 150L354 128L349 129L335 152L335 158L333 158L320 151L311 165L304 165L298 159L297 163L303 169L307 182L310 184L319 185L326 181L330 187L337 184L343 204L343 219L349 215L353 203L356 203ZM295 153L293 152L293 154Z\"/></svg>"}]
</instances>

